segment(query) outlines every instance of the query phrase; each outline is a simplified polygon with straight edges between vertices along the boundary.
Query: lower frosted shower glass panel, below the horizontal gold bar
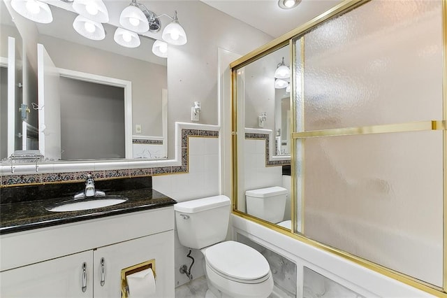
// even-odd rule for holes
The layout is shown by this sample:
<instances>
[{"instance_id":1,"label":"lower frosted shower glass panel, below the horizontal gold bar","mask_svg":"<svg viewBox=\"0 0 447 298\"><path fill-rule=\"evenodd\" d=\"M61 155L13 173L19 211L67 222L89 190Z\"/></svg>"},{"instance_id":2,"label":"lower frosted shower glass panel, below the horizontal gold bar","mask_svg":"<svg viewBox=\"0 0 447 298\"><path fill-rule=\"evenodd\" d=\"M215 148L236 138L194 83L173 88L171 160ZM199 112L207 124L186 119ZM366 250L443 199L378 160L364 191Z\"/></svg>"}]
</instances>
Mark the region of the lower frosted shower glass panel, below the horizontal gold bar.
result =
<instances>
[{"instance_id":1,"label":"lower frosted shower glass panel, below the horizontal gold bar","mask_svg":"<svg viewBox=\"0 0 447 298\"><path fill-rule=\"evenodd\" d=\"M306 139L305 236L441 286L442 142L432 131Z\"/></svg>"}]
</instances>

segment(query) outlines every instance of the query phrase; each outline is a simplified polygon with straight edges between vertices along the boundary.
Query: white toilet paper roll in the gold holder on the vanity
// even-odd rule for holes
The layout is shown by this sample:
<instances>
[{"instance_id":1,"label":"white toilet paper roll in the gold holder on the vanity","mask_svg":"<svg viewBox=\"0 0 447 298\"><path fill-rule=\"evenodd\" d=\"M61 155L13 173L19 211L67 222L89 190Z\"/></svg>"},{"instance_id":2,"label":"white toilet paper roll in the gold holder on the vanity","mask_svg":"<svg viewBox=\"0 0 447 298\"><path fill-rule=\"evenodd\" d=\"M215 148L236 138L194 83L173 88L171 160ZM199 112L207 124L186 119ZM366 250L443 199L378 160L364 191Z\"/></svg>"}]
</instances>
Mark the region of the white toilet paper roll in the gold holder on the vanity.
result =
<instances>
[{"instance_id":1,"label":"white toilet paper roll in the gold holder on the vanity","mask_svg":"<svg viewBox=\"0 0 447 298\"><path fill-rule=\"evenodd\" d=\"M126 276L129 298L153 297L156 291L154 272L146 269Z\"/></svg>"}]
</instances>

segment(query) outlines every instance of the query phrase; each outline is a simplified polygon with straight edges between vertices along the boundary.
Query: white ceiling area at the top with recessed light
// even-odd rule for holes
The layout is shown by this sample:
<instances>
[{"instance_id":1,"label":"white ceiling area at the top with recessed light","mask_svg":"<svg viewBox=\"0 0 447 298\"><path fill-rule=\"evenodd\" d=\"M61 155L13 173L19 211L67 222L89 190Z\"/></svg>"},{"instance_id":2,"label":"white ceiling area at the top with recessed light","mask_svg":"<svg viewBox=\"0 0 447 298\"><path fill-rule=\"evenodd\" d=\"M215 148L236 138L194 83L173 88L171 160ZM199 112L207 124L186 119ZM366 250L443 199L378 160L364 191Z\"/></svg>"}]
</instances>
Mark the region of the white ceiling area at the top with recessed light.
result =
<instances>
[{"instance_id":1,"label":"white ceiling area at the top with recessed light","mask_svg":"<svg viewBox=\"0 0 447 298\"><path fill-rule=\"evenodd\" d=\"M277 38L321 15L342 0L302 0L290 10L279 8L277 0L200 0L266 34Z\"/></svg>"}]
</instances>

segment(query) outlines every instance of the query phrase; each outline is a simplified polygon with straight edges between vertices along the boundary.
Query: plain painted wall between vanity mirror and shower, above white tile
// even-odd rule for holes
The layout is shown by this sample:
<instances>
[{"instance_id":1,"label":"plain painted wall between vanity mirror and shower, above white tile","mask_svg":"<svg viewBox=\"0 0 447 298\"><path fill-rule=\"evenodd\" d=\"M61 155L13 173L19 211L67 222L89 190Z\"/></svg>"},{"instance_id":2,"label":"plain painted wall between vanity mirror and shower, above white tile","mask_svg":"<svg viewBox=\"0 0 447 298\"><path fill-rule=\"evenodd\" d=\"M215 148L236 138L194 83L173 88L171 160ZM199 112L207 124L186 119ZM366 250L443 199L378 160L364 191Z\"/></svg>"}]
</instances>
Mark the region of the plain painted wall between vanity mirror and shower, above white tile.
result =
<instances>
[{"instance_id":1,"label":"plain painted wall between vanity mirror and shower, above white tile","mask_svg":"<svg viewBox=\"0 0 447 298\"><path fill-rule=\"evenodd\" d=\"M218 48L245 54L273 38L200 1L164 4L179 11L179 22L188 34L186 45L170 47L168 52L168 143L172 143L173 120L190 122L193 101L202 104L200 123L217 124ZM174 149L169 147L172 157Z\"/></svg>"}]
</instances>

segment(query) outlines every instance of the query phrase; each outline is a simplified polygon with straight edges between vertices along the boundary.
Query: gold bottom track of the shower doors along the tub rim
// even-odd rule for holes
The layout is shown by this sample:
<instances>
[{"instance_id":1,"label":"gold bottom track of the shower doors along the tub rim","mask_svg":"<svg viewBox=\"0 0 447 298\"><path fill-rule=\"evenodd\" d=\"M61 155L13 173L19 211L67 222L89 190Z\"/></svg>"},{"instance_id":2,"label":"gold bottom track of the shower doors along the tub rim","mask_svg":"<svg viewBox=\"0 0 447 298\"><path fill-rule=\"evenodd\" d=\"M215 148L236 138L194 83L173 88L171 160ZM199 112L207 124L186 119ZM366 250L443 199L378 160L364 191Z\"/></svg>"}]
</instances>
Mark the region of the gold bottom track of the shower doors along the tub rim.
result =
<instances>
[{"instance_id":1,"label":"gold bottom track of the shower doors along the tub rim","mask_svg":"<svg viewBox=\"0 0 447 298\"><path fill-rule=\"evenodd\" d=\"M319 249L324 250L328 253L333 253L335 255L338 255L339 257L343 257L344 259L347 259L355 264L358 264L358 265L365 267L367 269L371 269L372 271L376 271L379 274L393 278L397 281L405 283L406 285L411 285L413 288L423 290L424 292L434 295L435 297L447 298L447 293L442 292L443 291L442 288L439 288L439 287L432 285L430 283L425 283L424 281L420 281L416 278L407 276L406 274L402 274L402 273L395 271L393 269L383 267L380 264L376 264L374 262L362 259L361 257L357 257L356 255L352 255L351 253L346 253L343 250L339 250L337 248L327 246L323 243L320 243L318 241L315 241L315 240L309 239L305 236L302 236L301 234L292 233L288 229L284 229L282 227L279 227L278 225L274 225L272 222L261 220L260 218L255 218L254 216L248 215L247 213L235 211L234 214L239 216L240 218L244 218L246 220L251 220L252 222L256 222L258 225L262 225L263 227L267 227L268 229L272 229L272 230L279 232L281 234L284 234L286 236L290 236L291 238L297 239L303 243L308 244L309 246L313 246L314 248L319 248Z\"/></svg>"}]
</instances>

